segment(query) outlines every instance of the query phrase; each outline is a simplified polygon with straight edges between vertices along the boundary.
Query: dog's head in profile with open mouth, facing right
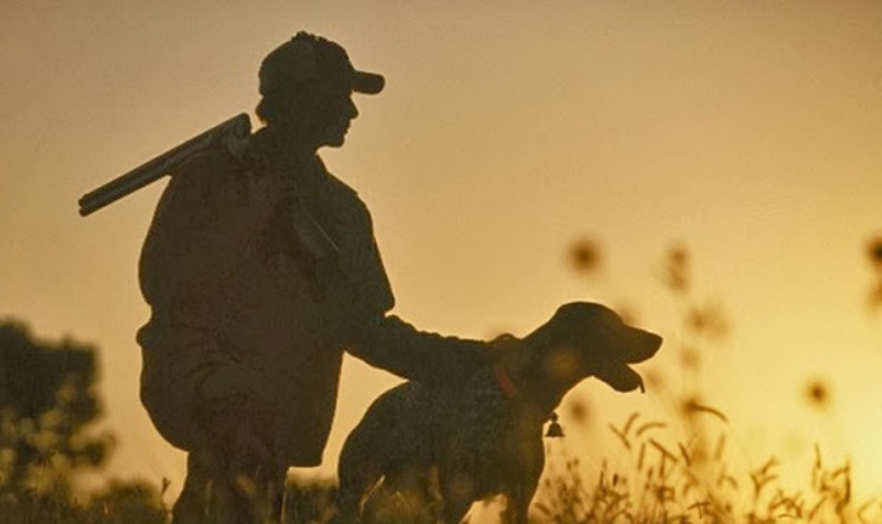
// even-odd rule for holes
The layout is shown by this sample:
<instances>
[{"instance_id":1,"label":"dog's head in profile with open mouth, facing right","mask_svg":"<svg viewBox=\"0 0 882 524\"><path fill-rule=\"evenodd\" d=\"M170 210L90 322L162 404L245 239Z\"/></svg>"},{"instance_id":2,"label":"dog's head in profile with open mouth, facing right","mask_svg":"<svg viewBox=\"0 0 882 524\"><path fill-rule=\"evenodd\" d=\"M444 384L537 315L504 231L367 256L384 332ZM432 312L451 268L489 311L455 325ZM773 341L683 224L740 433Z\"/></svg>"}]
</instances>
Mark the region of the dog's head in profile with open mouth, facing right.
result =
<instances>
[{"instance_id":1,"label":"dog's head in profile with open mouth, facing right","mask_svg":"<svg viewBox=\"0 0 882 524\"><path fill-rule=\"evenodd\" d=\"M525 340L541 348L537 364L561 383L596 376L622 392L643 390L643 379L628 364L647 360L662 346L658 335L628 326L609 307L583 302L561 306Z\"/></svg>"}]
</instances>

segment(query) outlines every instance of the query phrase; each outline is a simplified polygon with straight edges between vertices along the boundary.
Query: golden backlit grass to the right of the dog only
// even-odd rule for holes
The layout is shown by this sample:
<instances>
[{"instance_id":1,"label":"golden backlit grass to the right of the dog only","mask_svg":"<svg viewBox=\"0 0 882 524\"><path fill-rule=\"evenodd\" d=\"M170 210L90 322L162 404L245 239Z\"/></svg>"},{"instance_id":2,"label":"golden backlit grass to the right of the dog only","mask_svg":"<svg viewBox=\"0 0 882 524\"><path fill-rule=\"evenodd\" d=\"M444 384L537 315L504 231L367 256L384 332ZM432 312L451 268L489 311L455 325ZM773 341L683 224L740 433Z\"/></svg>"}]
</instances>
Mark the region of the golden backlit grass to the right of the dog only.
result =
<instances>
[{"instance_id":1,"label":"golden backlit grass to the right of the dog only","mask_svg":"<svg viewBox=\"0 0 882 524\"><path fill-rule=\"evenodd\" d=\"M709 416L722 416L714 411ZM627 466L604 460L588 480L579 457L559 457L534 507L538 522L580 523L873 523L882 520L882 499L856 501L848 462L827 465L815 448L811 478L802 490L781 482L778 459L770 457L743 472L727 459L727 434L691 445L668 444L664 423L632 415L611 426ZM562 467L555 467L562 463Z\"/></svg>"}]
</instances>

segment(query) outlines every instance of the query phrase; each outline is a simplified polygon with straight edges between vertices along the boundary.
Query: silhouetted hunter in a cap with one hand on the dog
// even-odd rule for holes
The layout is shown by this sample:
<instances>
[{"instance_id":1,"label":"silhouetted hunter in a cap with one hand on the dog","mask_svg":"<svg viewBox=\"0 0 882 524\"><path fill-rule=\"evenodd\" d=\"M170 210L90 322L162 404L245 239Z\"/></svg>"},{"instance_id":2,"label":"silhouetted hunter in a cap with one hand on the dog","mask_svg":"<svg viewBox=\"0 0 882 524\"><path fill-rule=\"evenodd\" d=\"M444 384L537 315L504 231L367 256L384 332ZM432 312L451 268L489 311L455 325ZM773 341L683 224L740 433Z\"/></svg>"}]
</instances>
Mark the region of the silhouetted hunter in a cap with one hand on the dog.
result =
<instances>
[{"instance_id":1,"label":"silhouetted hunter in a cap with one hand on the dog","mask_svg":"<svg viewBox=\"0 0 882 524\"><path fill-rule=\"evenodd\" d=\"M344 351L426 382L487 365L483 341L419 331L394 297L357 193L316 152L338 148L380 75L305 32L259 70L265 125L187 159L140 259L141 400L187 455L173 522L278 518L290 466L321 462Z\"/></svg>"}]
</instances>

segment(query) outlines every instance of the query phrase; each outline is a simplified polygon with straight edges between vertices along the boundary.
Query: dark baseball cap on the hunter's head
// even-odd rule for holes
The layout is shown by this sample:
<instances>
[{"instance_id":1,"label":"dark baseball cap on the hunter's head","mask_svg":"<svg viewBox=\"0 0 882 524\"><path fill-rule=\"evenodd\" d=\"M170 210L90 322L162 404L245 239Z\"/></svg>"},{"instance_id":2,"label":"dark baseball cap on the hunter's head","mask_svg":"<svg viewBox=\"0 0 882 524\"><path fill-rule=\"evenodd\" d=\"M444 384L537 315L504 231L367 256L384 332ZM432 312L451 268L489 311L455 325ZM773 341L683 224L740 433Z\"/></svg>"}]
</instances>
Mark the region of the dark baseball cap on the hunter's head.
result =
<instances>
[{"instance_id":1,"label":"dark baseball cap on the hunter's head","mask_svg":"<svg viewBox=\"0 0 882 524\"><path fill-rule=\"evenodd\" d=\"M272 50L260 64L260 95L271 96L306 84L327 83L355 92L376 95L386 84L383 75L353 67L337 43L301 31Z\"/></svg>"}]
</instances>

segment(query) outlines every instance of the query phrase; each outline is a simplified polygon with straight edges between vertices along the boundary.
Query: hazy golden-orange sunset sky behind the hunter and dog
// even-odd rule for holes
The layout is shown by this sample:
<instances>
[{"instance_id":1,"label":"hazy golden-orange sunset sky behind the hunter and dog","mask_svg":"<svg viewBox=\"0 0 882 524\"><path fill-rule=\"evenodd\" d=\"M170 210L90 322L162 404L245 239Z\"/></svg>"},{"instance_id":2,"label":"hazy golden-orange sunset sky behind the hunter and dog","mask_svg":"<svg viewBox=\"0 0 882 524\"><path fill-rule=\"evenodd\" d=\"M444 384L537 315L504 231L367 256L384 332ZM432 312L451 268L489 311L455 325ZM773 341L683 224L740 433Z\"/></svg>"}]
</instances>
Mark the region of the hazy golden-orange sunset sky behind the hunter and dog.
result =
<instances>
[{"instance_id":1,"label":"hazy golden-orange sunset sky behind the hunter and dog","mask_svg":"<svg viewBox=\"0 0 882 524\"><path fill-rule=\"evenodd\" d=\"M697 296L730 325L704 372L739 452L799 477L819 443L879 493L865 248L882 233L880 26L874 1L6 1L0 317L98 347L110 472L180 485L184 456L138 402L133 339L164 182L88 218L76 200L252 114L261 58L308 30L386 76L323 156L370 207L394 313L488 338L603 302L664 335L652 367L671 370L685 334L659 274L685 245ZM602 255L589 275L567 259L585 238ZM313 473L333 474L346 432L396 381L345 362ZM826 408L805 402L810 381L828 385ZM573 395L604 406L600 427L658 404L592 381Z\"/></svg>"}]
</instances>

